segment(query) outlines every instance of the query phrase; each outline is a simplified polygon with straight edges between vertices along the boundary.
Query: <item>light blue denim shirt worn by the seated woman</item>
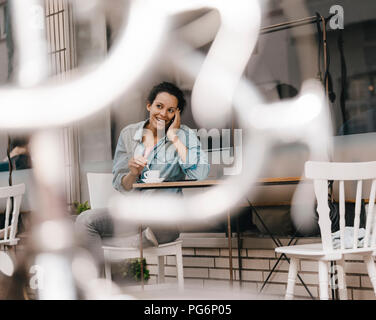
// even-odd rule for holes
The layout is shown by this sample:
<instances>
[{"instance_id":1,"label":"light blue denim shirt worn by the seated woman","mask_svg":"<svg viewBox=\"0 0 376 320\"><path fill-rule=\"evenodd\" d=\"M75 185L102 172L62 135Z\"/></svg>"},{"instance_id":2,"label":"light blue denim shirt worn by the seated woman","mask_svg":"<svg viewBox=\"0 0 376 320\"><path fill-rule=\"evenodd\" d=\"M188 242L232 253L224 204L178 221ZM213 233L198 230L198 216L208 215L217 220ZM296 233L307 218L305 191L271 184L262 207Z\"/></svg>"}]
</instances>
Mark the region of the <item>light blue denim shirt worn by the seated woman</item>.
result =
<instances>
[{"instance_id":1,"label":"light blue denim shirt worn by the seated woman","mask_svg":"<svg viewBox=\"0 0 376 320\"><path fill-rule=\"evenodd\" d=\"M131 124L120 133L112 166L112 185L120 192L126 191L121 184L121 180L130 171L128 161L132 157L143 156L145 153L142 137L143 129L147 123L148 120ZM150 170L159 170L161 178L171 181L184 180L186 177L197 180L207 178L210 170L208 156L201 149L196 133L187 126L181 125L176 134L179 140L187 147L186 161L184 162L180 158L175 146L168 140L167 136L164 136L157 142L147 157ZM142 179L145 178L146 171L148 169L145 167L137 183L143 182ZM181 192L180 188L162 190L175 193Z\"/></svg>"}]
</instances>

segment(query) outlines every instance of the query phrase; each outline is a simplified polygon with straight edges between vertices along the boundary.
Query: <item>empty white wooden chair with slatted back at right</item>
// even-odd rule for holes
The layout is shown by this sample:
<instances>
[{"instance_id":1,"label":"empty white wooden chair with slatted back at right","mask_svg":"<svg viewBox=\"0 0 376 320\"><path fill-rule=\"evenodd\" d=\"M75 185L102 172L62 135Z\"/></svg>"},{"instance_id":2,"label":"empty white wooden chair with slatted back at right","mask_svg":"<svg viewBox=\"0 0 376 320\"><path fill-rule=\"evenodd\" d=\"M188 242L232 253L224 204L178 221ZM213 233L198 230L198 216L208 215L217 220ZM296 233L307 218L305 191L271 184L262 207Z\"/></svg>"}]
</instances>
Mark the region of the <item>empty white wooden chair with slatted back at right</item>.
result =
<instances>
[{"instance_id":1,"label":"empty white wooden chair with slatted back at right","mask_svg":"<svg viewBox=\"0 0 376 320\"><path fill-rule=\"evenodd\" d=\"M374 214L375 191L376 191L376 161L358 163L336 163L336 162L314 162L308 161L305 164L305 175L313 179L314 191L317 198L317 211L319 214L319 226L321 243L294 245L276 248L277 253L284 253L291 257L288 273L287 289L285 299L292 299L294 286L297 277L298 261L300 258L318 260L320 299L329 299L328 294L328 263L337 262L338 287L341 299L347 299L347 288L345 280L345 259L344 255L361 255L367 265L368 275L371 279L376 294L376 268L373 260L373 253L376 249L376 217ZM328 180L339 181L339 214L340 214L340 240L338 249L334 248L331 221L329 218L328 206ZM356 181L356 202L353 236L348 237L351 248L345 245L345 181ZM366 217L365 236L363 244L359 239L359 223L362 200L363 182L372 182L369 194L369 207ZM349 188L349 187L348 187ZM367 194L368 195L368 194ZM348 224L348 221L346 221ZM362 230L364 231L364 230ZM351 235L351 233L350 233Z\"/></svg>"}]
</instances>

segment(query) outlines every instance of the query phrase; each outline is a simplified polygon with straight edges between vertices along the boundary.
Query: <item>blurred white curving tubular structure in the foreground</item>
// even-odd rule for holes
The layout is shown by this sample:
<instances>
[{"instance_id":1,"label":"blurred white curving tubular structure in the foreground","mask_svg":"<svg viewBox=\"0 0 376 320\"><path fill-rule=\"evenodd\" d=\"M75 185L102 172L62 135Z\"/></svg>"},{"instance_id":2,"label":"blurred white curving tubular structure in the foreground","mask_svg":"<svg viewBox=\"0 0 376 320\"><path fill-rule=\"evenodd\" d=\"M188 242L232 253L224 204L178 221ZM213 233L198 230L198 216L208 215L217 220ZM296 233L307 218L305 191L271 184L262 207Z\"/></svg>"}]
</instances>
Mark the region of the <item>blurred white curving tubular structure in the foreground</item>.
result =
<instances>
[{"instance_id":1,"label":"blurred white curving tubular structure in the foreground","mask_svg":"<svg viewBox=\"0 0 376 320\"><path fill-rule=\"evenodd\" d=\"M27 16L35 6L42 6L42 1L12 1L16 19ZM20 54L21 86L0 88L3 106L0 127L37 130L60 127L105 108L126 92L150 65L166 35L169 17L201 8L218 10L221 16L219 31L207 57L193 51L181 61L180 67L186 72L199 70L195 74L197 78L192 92L192 110L198 123L220 127L231 111L238 117L245 141L237 154L237 157L242 157L241 174L233 175L222 185L197 196L150 195L148 201L136 194L116 196L112 202L114 216L149 224L186 221L199 224L202 220L218 217L252 190L273 142L301 141L309 146L312 158L325 158L331 129L320 83L307 81L299 97L267 105L255 87L241 78L261 25L260 4L249 0L238 0L236 5L228 0L131 1L128 23L123 26L123 32L107 59L96 69L83 75L77 73L77 76L61 83L41 84L43 66L47 63L43 53L45 46L40 37L41 25L30 25L27 19L14 21L17 47L20 52L35 54L36 65L29 69L28 56ZM176 59L175 63L180 62ZM30 70L41 71L36 79L30 80ZM36 261L50 269L46 270L50 282L41 291L40 297L76 299L77 277L69 273L72 265L76 264L71 261L72 255L68 254L75 248L70 224L64 219L66 210L62 197L64 156L54 136L53 131L37 134L32 149L41 207L36 220L38 225L34 227L33 240L39 252ZM48 237L51 233L55 234L52 242ZM82 269L76 267L73 269ZM87 283L89 278L85 278ZM92 278L95 280L94 276Z\"/></svg>"}]
</instances>

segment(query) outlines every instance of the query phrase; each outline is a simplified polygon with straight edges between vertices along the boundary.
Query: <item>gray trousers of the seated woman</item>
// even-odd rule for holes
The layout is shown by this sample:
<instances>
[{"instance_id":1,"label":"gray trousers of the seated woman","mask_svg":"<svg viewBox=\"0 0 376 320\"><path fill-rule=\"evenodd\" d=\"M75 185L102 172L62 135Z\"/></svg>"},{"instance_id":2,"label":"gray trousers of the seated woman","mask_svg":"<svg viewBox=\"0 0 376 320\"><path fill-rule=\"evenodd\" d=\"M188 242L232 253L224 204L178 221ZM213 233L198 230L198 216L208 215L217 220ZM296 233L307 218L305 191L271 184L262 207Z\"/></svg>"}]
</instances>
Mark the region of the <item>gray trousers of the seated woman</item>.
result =
<instances>
[{"instance_id":1,"label":"gray trousers of the seated woman","mask_svg":"<svg viewBox=\"0 0 376 320\"><path fill-rule=\"evenodd\" d=\"M177 227L151 227L159 244L176 240L179 237ZM80 243L90 251L99 266L104 263L102 245L118 247L139 247L139 226L116 221L107 209L91 209L82 212L75 222L76 236ZM143 237L143 246L150 246Z\"/></svg>"}]
</instances>

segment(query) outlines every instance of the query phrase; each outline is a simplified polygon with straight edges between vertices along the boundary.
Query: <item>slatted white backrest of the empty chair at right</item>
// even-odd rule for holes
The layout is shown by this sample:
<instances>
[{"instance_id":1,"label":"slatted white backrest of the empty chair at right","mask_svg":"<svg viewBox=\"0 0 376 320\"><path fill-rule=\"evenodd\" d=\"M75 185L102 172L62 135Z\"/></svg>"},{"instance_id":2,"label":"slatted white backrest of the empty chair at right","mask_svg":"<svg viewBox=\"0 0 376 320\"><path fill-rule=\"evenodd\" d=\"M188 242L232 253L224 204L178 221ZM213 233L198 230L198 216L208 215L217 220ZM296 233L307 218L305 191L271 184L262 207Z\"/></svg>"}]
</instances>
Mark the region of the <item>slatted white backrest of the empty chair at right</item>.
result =
<instances>
[{"instance_id":1,"label":"slatted white backrest of the empty chair at right","mask_svg":"<svg viewBox=\"0 0 376 320\"><path fill-rule=\"evenodd\" d=\"M358 248L363 182L366 180L372 182L363 247L376 247L376 218L374 217L376 161L354 163L307 161L305 164L305 175L307 178L314 180L321 239L323 248L326 251L334 250L331 236L330 210L328 206L328 180L338 181L339 184L340 250L345 249L345 181L356 181L352 249Z\"/></svg>"}]
</instances>

